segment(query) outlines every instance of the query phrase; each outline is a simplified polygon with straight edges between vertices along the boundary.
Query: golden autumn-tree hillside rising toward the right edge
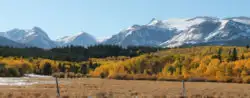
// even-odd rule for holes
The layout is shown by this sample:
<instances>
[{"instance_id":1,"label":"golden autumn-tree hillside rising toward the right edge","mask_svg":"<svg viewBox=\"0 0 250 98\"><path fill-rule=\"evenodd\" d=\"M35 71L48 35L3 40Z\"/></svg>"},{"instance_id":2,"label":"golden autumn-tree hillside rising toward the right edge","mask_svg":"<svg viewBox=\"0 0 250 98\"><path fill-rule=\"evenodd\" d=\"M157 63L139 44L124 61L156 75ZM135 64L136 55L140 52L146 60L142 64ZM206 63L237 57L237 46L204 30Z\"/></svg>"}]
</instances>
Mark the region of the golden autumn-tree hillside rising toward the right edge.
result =
<instances>
[{"instance_id":1,"label":"golden autumn-tree hillside rising toward the right edge","mask_svg":"<svg viewBox=\"0 0 250 98\"><path fill-rule=\"evenodd\" d=\"M250 82L249 47L173 48L106 62L93 76L138 80Z\"/></svg>"}]
</instances>

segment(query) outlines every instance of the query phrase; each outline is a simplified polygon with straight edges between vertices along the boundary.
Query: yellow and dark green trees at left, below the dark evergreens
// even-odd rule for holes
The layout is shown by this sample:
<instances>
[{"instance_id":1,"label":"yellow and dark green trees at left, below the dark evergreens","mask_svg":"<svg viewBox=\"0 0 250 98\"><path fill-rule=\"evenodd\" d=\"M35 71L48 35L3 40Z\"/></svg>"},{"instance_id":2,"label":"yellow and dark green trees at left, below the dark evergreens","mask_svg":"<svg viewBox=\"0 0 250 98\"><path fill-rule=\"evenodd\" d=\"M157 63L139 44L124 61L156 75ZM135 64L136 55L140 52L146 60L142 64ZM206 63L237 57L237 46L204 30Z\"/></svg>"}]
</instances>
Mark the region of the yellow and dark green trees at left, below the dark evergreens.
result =
<instances>
[{"instance_id":1,"label":"yellow and dark green trees at left, below the dark evergreens","mask_svg":"<svg viewBox=\"0 0 250 98\"><path fill-rule=\"evenodd\" d=\"M82 77L99 66L98 62L92 62L91 60L68 62L42 58L0 57L0 77L21 77L29 73L54 75L61 78L65 75Z\"/></svg>"}]
</instances>

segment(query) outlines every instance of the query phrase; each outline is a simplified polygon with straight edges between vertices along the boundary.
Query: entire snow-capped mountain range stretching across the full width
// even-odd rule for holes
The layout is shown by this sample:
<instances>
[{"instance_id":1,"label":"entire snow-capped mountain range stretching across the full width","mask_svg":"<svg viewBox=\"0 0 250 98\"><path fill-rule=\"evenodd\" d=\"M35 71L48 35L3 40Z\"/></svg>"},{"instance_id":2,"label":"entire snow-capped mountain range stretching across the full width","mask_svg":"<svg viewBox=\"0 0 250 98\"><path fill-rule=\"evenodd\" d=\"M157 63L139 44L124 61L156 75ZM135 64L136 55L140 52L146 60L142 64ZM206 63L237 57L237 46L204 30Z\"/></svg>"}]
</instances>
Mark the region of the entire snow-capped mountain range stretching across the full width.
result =
<instances>
[{"instance_id":1,"label":"entire snow-capped mountain range stretching across the full width","mask_svg":"<svg viewBox=\"0 0 250 98\"><path fill-rule=\"evenodd\" d=\"M133 25L105 40L80 32L53 41L39 27L29 30L12 29L0 32L0 36L23 46L53 48L57 46L90 46L112 44L120 46L161 46L183 45L247 45L250 44L250 18L248 17L194 17L157 20L153 18L144 25ZM4 40L5 40L4 39ZM8 45L3 41L4 45ZM0 45L2 45L0 43ZM13 45L10 45L13 46Z\"/></svg>"}]
</instances>

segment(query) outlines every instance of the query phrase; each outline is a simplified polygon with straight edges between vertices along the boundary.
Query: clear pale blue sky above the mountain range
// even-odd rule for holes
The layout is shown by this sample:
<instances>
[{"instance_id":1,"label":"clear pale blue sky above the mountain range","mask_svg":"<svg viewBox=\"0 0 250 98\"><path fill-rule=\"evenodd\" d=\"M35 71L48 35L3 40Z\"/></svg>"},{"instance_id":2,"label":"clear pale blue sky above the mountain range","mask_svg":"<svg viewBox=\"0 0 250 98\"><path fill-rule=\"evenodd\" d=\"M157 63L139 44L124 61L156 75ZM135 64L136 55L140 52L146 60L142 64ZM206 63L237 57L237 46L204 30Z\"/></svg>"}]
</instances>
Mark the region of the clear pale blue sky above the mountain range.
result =
<instances>
[{"instance_id":1,"label":"clear pale blue sky above the mountain range","mask_svg":"<svg viewBox=\"0 0 250 98\"><path fill-rule=\"evenodd\" d=\"M250 16L250 0L1 0L0 31L41 27L51 39L107 37L152 18Z\"/></svg>"}]
</instances>

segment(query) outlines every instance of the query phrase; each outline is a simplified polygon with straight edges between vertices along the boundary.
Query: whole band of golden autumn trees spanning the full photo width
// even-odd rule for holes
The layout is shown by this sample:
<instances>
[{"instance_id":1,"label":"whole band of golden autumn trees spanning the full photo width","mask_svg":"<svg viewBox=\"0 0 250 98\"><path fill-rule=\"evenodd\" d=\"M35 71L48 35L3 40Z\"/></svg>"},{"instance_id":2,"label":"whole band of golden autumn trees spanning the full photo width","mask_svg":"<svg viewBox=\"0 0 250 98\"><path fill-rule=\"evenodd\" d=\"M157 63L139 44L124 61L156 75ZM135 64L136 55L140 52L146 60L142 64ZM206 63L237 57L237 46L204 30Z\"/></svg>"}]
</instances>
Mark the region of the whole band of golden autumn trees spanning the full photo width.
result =
<instances>
[{"instance_id":1,"label":"whole band of golden autumn trees spanning the full photo width","mask_svg":"<svg viewBox=\"0 0 250 98\"><path fill-rule=\"evenodd\" d=\"M49 52L67 53L67 49L72 48L64 49L52 49ZM77 50L76 47L75 49ZM76 50L72 49L73 55L84 53ZM106 53L104 49L98 51L92 47L91 50L93 53ZM115 54L115 50L112 51L114 52L110 52L111 55L99 57L92 54L87 60L78 62L17 56L1 57L0 75L22 76L25 73L36 73L61 78L92 76L128 80L250 82L248 46L172 48L151 53L147 51L141 55L137 50L136 55L139 56L135 55L136 57L130 57L128 54L119 56Z\"/></svg>"}]
</instances>

